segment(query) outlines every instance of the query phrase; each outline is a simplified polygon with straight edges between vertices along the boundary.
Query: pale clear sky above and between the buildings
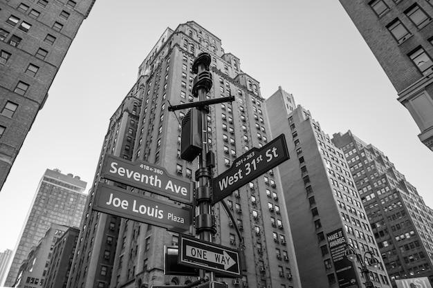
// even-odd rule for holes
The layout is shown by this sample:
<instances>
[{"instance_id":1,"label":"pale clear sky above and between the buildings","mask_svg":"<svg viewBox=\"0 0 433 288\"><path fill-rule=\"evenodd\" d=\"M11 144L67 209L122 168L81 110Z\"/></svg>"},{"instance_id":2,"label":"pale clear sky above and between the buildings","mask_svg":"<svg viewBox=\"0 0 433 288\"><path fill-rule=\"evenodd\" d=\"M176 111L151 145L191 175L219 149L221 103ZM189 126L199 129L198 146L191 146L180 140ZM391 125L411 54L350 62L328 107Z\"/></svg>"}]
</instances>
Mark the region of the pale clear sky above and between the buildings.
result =
<instances>
[{"instance_id":1,"label":"pale clear sky above and between the buildings","mask_svg":"<svg viewBox=\"0 0 433 288\"><path fill-rule=\"evenodd\" d=\"M210 5L205 5L209 3ZM194 20L268 97L282 86L329 135L349 129L433 207L433 152L337 0L97 0L0 192L0 251L15 249L45 170L93 181L109 118L165 28Z\"/></svg>"}]
</instances>

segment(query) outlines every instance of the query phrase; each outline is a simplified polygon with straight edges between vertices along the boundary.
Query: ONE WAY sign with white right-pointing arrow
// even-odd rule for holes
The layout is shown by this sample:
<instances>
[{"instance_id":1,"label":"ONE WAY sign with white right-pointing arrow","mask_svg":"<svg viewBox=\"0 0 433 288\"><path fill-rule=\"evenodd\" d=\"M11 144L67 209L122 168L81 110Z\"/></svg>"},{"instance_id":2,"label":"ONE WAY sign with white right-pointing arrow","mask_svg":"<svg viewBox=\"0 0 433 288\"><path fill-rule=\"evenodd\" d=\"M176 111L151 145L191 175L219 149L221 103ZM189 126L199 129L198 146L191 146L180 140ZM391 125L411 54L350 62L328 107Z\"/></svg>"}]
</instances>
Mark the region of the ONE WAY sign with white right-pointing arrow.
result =
<instances>
[{"instance_id":1,"label":"ONE WAY sign with white right-pointing arrow","mask_svg":"<svg viewBox=\"0 0 433 288\"><path fill-rule=\"evenodd\" d=\"M182 234L179 236L180 264L242 277L239 251Z\"/></svg>"}]
</instances>

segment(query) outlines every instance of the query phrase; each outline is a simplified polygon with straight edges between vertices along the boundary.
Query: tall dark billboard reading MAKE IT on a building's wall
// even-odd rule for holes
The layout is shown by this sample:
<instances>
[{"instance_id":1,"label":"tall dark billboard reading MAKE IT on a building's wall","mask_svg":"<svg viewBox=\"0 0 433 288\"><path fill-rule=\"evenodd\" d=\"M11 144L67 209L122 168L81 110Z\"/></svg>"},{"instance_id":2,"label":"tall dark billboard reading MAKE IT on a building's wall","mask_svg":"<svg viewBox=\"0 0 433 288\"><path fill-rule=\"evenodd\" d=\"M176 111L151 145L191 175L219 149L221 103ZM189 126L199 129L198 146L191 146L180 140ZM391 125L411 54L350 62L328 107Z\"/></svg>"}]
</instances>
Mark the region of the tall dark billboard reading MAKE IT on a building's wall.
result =
<instances>
[{"instance_id":1,"label":"tall dark billboard reading MAKE IT on a building's wall","mask_svg":"<svg viewBox=\"0 0 433 288\"><path fill-rule=\"evenodd\" d=\"M340 288L358 288L358 278L353 262L346 257L347 240L343 229L337 229L326 234L329 251L337 274L338 286Z\"/></svg>"}]
</instances>

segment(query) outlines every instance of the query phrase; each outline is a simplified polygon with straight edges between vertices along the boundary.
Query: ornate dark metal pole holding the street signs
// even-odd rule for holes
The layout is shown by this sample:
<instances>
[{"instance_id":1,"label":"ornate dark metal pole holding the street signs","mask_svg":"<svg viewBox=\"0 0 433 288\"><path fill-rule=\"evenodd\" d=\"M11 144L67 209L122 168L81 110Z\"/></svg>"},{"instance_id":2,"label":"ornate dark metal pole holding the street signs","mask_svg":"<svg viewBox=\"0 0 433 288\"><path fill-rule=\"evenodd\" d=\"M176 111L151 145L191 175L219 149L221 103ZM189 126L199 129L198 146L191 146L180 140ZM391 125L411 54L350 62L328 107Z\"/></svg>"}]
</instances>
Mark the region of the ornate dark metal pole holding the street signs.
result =
<instances>
[{"instance_id":1,"label":"ornate dark metal pole holding the street signs","mask_svg":"<svg viewBox=\"0 0 433 288\"><path fill-rule=\"evenodd\" d=\"M210 54L203 52L199 54L194 64L192 65L192 72L197 74L194 79L194 86L192 94L199 98L199 102L205 101L206 93L212 88L212 74L209 71L211 62ZM202 151L199 155L199 169L196 171L196 181L199 186L196 189L196 205L199 207L199 215L196 216L196 233L199 235L200 240L210 242L211 233L215 233L213 218L211 213L211 194L210 184L212 180L212 173L210 165L208 165L208 113L209 106L200 106L201 112L201 127L199 131L202 134ZM212 162L212 161L210 161ZM200 270L200 277L205 277L205 270ZM210 280L213 280L214 273L210 273Z\"/></svg>"}]
</instances>

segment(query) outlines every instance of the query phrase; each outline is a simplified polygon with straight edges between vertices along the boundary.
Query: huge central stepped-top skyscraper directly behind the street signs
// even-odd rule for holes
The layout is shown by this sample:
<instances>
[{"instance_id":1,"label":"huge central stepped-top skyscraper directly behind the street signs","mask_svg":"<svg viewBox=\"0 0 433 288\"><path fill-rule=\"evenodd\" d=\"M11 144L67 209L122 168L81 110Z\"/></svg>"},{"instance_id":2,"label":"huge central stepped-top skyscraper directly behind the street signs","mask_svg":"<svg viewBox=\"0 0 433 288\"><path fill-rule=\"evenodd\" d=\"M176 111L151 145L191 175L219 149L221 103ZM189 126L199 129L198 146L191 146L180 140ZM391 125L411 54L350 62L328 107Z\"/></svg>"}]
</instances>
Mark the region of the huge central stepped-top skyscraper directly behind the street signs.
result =
<instances>
[{"instance_id":1,"label":"huge central stepped-top skyscraper directly behind the street signs","mask_svg":"<svg viewBox=\"0 0 433 288\"><path fill-rule=\"evenodd\" d=\"M180 120L187 111L173 113L167 108L195 101L192 64L200 52L209 52L212 57L213 86L208 99L235 97L234 102L211 105L207 117L208 129L203 134L203 142L215 153L214 175L228 169L234 159L250 148L261 147L271 140L259 82L241 70L239 58L224 52L218 37L190 21L180 24L176 30L167 28L140 65L136 84L111 119L95 186L100 181L106 153L150 162L164 167L171 175L194 179L197 161L187 162L180 157ZM139 118L133 115L138 109ZM223 200L234 214L235 223L229 221L220 203L214 205L217 233L212 242L236 249L240 244L234 230L237 225L246 247L243 278L226 280L230 287L300 287L291 228L282 199L279 173L274 169ZM92 192L88 207L93 201ZM118 230L117 219L111 215L95 213L90 208L84 215L68 287L192 281L187 276L163 273L164 246L176 245L177 233L131 220L122 220Z\"/></svg>"}]
</instances>

